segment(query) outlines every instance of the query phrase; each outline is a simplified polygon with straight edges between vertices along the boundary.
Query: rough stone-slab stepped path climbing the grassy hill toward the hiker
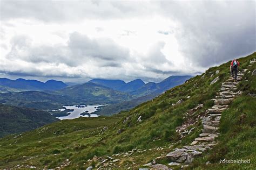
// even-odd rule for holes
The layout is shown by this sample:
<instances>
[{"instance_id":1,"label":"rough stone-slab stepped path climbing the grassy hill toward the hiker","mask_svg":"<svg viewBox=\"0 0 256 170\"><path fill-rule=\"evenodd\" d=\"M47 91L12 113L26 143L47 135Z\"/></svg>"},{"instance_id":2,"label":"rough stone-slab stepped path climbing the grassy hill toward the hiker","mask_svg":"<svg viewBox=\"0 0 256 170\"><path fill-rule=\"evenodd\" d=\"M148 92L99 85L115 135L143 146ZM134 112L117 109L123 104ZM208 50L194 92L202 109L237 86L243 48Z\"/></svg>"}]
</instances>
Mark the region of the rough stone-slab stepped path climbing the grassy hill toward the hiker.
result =
<instances>
[{"instance_id":1,"label":"rough stone-slab stepped path climbing the grassy hill toward the hiker","mask_svg":"<svg viewBox=\"0 0 256 170\"><path fill-rule=\"evenodd\" d=\"M175 148L172 152L166 155L166 158L170 159L169 166L180 166L185 168L192 163L193 159L217 144L215 140L218 137L221 113L228 107L228 105L233 101L234 97L238 94L241 94L241 91L238 91L237 84L241 81L242 76L244 75L245 69L242 72L238 73L237 82L234 82L233 77L230 76L230 79L222 83L220 90L212 100L214 105L212 108L205 110L206 115L202 119L203 129L199 134L199 137L195 138L194 141L188 145L181 148ZM153 169L170 169L169 167L161 164L150 166Z\"/></svg>"}]
</instances>

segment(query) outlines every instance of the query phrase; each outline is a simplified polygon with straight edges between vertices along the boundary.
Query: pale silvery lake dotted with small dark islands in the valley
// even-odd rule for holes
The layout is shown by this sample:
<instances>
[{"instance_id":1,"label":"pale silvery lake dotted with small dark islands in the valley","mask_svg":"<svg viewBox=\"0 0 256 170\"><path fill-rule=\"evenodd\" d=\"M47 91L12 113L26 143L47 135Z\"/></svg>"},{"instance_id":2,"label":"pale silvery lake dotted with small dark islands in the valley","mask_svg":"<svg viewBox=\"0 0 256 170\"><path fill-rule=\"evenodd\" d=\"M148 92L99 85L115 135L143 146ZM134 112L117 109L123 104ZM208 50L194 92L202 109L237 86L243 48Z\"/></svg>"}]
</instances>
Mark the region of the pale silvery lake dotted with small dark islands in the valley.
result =
<instances>
[{"instance_id":1,"label":"pale silvery lake dotted with small dark islands in the valley","mask_svg":"<svg viewBox=\"0 0 256 170\"><path fill-rule=\"evenodd\" d=\"M78 107L79 106L79 107ZM87 113L90 114L91 117L98 117L99 115L97 114L91 114L97 110L98 107L102 105L64 105L63 107L66 109L73 109L74 111L70 111L70 115L68 116L62 116L62 117L57 117L60 120L64 119L75 119L80 116L82 117L89 117L88 115L80 115L83 112L88 111ZM58 111L64 111L65 109L59 109ZM56 110L57 111L57 110Z\"/></svg>"}]
</instances>

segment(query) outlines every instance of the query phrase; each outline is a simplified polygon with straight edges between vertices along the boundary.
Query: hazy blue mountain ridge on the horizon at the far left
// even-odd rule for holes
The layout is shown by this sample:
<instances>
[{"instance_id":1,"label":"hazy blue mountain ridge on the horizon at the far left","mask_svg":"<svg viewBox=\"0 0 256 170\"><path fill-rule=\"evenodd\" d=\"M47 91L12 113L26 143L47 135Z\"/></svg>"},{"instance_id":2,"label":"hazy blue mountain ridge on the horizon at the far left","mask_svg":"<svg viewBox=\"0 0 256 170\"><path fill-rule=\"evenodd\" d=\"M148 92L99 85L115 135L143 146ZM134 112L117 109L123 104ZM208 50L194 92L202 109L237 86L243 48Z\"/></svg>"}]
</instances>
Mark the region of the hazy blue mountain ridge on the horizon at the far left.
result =
<instances>
[{"instance_id":1,"label":"hazy blue mountain ridge on the horizon at the far left","mask_svg":"<svg viewBox=\"0 0 256 170\"><path fill-rule=\"evenodd\" d=\"M62 81L49 80L47 82L41 82L37 80L25 80L25 79L17 79L10 80L6 78L0 78L0 86L8 87L13 89L18 89L19 91L24 90L59 90L68 85L63 83Z\"/></svg>"}]
</instances>

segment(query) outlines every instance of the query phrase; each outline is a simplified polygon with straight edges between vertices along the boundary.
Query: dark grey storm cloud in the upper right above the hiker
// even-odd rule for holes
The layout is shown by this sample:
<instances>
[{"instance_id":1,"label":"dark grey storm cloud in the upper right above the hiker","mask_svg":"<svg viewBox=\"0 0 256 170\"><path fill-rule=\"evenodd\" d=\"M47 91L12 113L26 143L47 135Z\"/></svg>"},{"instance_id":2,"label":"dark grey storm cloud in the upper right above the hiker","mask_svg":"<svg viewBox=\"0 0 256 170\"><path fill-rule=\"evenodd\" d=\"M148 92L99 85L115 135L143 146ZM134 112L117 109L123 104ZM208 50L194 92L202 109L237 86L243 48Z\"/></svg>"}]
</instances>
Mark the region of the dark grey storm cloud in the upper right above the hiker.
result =
<instances>
[{"instance_id":1,"label":"dark grey storm cloud in the upper right above the hiker","mask_svg":"<svg viewBox=\"0 0 256 170\"><path fill-rule=\"evenodd\" d=\"M255 1L160 2L187 60L209 67L255 51Z\"/></svg>"}]
</instances>

